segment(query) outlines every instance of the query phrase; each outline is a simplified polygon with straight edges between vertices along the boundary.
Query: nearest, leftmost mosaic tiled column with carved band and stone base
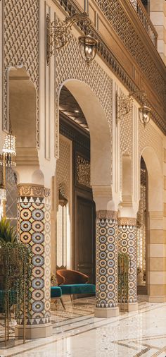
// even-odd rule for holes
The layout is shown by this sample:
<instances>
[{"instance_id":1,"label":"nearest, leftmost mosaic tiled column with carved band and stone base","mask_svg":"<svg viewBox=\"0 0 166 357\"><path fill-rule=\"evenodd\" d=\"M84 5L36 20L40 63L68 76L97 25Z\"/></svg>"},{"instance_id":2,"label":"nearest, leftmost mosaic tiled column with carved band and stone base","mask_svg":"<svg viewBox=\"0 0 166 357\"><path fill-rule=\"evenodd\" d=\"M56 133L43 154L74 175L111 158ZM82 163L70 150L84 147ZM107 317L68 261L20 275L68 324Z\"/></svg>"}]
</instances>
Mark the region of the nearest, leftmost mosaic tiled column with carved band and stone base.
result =
<instances>
[{"instance_id":1,"label":"nearest, leftmost mosaic tiled column with carved band and stone base","mask_svg":"<svg viewBox=\"0 0 166 357\"><path fill-rule=\"evenodd\" d=\"M32 299L27 338L48 337L50 322L50 190L44 186L18 185L18 233L32 247ZM15 334L23 334L17 326Z\"/></svg>"}]
</instances>

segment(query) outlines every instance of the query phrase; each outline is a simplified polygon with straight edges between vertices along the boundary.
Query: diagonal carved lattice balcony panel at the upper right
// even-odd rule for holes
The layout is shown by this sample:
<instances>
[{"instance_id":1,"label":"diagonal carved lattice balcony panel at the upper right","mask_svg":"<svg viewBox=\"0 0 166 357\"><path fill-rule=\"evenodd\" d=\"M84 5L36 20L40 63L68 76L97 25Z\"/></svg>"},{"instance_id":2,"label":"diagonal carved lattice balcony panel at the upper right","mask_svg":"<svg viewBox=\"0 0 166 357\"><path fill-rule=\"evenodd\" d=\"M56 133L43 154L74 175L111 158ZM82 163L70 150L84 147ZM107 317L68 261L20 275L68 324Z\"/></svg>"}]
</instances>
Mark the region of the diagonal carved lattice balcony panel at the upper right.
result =
<instances>
[{"instance_id":1,"label":"diagonal carved lattice balcony panel at the upper right","mask_svg":"<svg viewBox=\"0 0 166 357\"><path fill-rule=\"evenodd\" d=\"M118 0L96 0L98 6L108 18L117 35L127 47L127 50L132 54L134 60L143 71L146 78L150 80L151 85L158 92L158 97L166 105L166 83L165 78L158 70L158 67L149 55L148 50L143 45L141 38L137 34L132 22L127 17L120 1Z\"/></svg>"}]
</instances>

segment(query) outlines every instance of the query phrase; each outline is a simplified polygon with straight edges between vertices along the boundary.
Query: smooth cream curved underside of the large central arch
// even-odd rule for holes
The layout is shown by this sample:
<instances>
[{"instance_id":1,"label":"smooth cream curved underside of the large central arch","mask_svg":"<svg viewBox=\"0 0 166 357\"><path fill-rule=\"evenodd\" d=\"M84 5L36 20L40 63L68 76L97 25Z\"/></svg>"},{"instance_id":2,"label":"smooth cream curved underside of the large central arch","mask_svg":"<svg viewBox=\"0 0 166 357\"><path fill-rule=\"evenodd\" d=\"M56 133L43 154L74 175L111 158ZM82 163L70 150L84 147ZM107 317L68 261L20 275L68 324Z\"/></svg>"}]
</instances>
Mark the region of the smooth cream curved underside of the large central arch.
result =
<instances>
[{"instance_id":1,"label":"smooth cream curved underside of the large central arch","mask_svg":"<svg viewBox=\"0 0 166 357\"><path fill-rule=\"evenodd\" d=\"M111 140L106 114L89 85L80 80L63 83L81 107L91 138L91 186L111 185ZM63 87L61 85L60 89ZM59 91L60 96L60 91Z\"/></svg>"}]
</instances>

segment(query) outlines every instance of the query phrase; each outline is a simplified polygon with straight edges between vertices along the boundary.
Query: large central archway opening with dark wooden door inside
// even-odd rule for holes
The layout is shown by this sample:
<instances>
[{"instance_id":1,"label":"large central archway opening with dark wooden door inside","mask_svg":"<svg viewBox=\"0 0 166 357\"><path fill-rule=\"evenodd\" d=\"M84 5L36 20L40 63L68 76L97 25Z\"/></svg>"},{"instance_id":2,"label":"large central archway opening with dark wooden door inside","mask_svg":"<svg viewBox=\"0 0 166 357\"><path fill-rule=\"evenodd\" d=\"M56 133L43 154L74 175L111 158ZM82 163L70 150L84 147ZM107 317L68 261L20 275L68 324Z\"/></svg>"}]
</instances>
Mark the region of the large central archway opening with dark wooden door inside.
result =
<instances>
[{"instance_id":1,"label":"large central archway opening with dark wooden door inside","mask_svg":"<svg viewBox=\"0 0 166 357\"><path fill-rule=\"evenodd\" d=\"M92 283L96 250L92 186L110 186L110 128L96 95L79 80L69 80L61 87L59 109L56 269L61 267L58 262L65 262L65 267L87 274ZM65 205L61 205L63 201Z\"/></svg>"}]
</instances>

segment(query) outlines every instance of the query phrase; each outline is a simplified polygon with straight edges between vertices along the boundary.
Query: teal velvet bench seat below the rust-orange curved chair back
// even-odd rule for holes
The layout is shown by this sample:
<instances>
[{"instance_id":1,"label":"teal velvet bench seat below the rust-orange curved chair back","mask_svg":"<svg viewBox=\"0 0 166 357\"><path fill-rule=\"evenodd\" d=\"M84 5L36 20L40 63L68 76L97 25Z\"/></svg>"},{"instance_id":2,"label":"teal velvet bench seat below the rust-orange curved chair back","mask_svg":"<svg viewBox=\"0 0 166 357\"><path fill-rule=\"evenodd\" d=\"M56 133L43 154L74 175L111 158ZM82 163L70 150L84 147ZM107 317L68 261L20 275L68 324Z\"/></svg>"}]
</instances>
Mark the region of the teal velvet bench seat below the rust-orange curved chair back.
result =
<instances>
[{"instance_id":1,"label":"teal velvet bench seat below the rust-orange curved chair back","mask_svg":"<svg viewBox=\"0 0 166 357\"><path fill-rule=\"evenodd\" d=\"M95 294L96 286L94 284L63 284L60 285L63 295L70 295L73 305L73 295Z\"/></svg>"}]
</instances>

